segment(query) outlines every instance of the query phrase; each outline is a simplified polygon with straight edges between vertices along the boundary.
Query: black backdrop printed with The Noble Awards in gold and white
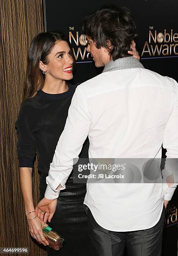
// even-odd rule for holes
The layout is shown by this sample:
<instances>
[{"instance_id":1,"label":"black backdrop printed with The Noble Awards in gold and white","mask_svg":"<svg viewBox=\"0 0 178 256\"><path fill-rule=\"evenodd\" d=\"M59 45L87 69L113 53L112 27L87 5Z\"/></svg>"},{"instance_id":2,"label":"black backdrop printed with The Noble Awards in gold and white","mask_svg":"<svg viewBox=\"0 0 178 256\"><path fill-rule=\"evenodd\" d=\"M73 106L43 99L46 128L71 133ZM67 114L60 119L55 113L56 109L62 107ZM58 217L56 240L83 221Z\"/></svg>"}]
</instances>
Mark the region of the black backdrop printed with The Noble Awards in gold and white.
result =
<instances>
[{"instance_id":1,"label":"black backdrop printed with The Noble Awards in gold and white","mask_svg":"<svg viewBox=\"0 0 178 256\"><path fill-rule=\"evenodd\" d=\"M102 72L102 68L94 67L91 56L86 51L87 41L81 34L81 24L86 15L111 3L131 10L139 34L135 40L136 48L144 67L163 76L173 77L178 82L178 1L98 0L93 5L82 0L44 0L46 31L60 31L72 44L76 58L72 83L84 82ZM178 189L169 202L165 215L163 256L170 255L178 255Z\"/></svg>"}]
</instances>

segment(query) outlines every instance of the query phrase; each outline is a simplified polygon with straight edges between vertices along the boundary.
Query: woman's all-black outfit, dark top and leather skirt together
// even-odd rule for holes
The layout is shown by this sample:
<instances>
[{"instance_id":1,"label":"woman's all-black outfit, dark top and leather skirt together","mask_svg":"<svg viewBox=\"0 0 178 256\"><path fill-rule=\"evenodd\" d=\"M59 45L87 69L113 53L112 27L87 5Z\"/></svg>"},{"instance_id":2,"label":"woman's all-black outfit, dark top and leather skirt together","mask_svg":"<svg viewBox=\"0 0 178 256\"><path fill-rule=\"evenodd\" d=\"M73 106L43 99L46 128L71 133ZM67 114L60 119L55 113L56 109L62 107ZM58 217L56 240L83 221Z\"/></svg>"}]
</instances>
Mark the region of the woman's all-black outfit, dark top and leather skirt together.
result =
<instances>
[{"instance_id":1,"label":"woman's all-black outfit, dark top and leather skirt together","mask_svg":"<svg viewBox=\"0 0 178 256\"><path fill-rule=\"evenodd\" d=\"M48 94L42 90L32 99L23 101L16 128L18 134L18 159L20 167L33 167L37 154L40 171L40 199L46 191L46 177L58 139L64 130L69 106L76 86L68 84L69 90L60 94ZM80 157L88 158L89 141L85 141ZM74 166L75 168L75 166ZM73 175L61 190L56 211L50 227L65 239L60 251L46 246L48 256L77 255L89 253L87 216L83 202L86 184L74 184Z\"/></svg>"}]
</instances>

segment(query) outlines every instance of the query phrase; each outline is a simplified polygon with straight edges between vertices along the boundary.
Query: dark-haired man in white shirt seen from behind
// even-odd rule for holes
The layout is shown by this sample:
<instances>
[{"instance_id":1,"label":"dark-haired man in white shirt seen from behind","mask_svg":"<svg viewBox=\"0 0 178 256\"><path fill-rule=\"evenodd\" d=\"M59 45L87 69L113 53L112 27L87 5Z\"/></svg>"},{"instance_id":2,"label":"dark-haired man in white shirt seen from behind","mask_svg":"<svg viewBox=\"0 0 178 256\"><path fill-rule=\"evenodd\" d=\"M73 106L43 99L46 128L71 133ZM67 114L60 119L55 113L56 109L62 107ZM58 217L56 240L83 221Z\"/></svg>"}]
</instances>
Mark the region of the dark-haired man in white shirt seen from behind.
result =
<instances>
[{"instance_id":1,"label":"dark-haired man in white shirt seen from behind","mask_svg":"<svg viewBox=\"0 0 178 256\"><path fill-rule=\"evenodd\" d=\"M80 84L72 99L37 206L48 220L87 136L91 159L160 159L162 143L167 158L178 157L178 84L127 54L136 36L130 11L102 8L86 17L83 33L95 66L104 71ZM168 167L163 184L87 184L84 207L94 256L122 256L125 245L128 255L160 255L165 207L177 185Z\"/></svg>"}]
</instances>

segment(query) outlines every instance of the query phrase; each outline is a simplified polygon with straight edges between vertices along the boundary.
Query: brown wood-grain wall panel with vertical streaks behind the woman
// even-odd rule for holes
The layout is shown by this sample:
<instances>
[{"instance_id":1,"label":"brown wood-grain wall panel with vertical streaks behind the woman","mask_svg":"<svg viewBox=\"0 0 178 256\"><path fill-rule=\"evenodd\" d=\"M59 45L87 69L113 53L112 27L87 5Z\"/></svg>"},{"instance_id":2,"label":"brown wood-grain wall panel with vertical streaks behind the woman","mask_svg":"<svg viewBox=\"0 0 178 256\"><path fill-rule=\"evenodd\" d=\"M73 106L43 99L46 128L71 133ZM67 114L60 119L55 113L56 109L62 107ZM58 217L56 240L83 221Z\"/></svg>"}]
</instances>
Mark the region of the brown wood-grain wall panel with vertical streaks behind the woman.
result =
<instances>
[{"instance_id":1,"label":"brown wood-grain wall panel with vertical streaks behind the woman","mask_svg":"<svg viewBox=\"0 0 178 256\"><path fill-rule=\"evenodd\" d=\"M0 0L0 247L29 247L31 256L45 256L46 251L28 231L19 184L15 121L23 97L27 51L33 37L44 31L43 22L43 0ZM36 205L36 164L33 184Z\"/></svg>"}]
</instances>

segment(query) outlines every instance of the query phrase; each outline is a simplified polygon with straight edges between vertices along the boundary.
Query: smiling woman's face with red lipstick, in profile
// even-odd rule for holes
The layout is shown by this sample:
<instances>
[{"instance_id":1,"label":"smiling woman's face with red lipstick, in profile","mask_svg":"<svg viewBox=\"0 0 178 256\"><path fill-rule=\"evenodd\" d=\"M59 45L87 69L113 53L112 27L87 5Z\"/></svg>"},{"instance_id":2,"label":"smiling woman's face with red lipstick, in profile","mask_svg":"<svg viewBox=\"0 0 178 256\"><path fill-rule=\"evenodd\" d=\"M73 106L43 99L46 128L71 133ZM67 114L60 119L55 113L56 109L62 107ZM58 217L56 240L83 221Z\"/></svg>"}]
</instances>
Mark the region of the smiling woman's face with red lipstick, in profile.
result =
<instances>
[{"instance_id":1,"label":"smiling woman's face with red lipstick, in profile","mask_svg":"<svg viewBox=\"0 0 178 256\"><path fill-rule=\"evenodd\" d=\"M49 63L44 65L48 71L47 76L56 79L70 80L73 78L72 52L66 41L56 41L51 53L48 55Z\"/></svg>"}]
</instances>

